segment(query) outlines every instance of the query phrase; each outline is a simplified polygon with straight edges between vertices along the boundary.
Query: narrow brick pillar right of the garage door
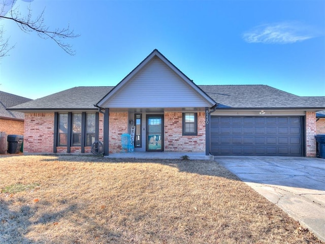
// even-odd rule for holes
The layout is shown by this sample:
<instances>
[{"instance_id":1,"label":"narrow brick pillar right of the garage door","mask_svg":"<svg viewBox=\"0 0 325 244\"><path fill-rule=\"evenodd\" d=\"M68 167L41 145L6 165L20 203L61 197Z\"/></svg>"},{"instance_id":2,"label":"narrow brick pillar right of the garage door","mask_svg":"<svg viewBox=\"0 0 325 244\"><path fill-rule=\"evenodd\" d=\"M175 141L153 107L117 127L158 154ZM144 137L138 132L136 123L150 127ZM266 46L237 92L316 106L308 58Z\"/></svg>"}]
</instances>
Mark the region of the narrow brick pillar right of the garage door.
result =
<instances>
[{"instance_id":1,"label":"narrow brick pillar right of the garage door","mask_svg":"<svg viewBox=\"0 0 325 244\"><path fill-rule=\"evenodd\" d=\"M306 112L306 157L316 156L316 113Z\"/></svg>"}]
</instances>

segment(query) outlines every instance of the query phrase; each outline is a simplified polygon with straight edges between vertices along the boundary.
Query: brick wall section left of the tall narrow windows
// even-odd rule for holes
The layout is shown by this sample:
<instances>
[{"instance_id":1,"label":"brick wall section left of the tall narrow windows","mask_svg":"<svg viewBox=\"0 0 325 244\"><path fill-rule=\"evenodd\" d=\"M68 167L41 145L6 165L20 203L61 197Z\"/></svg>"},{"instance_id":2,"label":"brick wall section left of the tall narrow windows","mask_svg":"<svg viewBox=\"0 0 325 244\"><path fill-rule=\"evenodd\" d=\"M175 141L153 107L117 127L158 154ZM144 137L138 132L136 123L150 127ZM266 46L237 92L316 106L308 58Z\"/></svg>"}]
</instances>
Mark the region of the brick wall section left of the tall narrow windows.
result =
<instances>
[{"instance_id":1,"label":"brick wall section left of the tall narrow windows","mask_svg":"<svg viewBox=\"0 0 325 244\"><path fill-rule=\"evenodd\" d=\"M24 153L53 153L54 113L25 113Z\"/></svg>"}]
</instances>

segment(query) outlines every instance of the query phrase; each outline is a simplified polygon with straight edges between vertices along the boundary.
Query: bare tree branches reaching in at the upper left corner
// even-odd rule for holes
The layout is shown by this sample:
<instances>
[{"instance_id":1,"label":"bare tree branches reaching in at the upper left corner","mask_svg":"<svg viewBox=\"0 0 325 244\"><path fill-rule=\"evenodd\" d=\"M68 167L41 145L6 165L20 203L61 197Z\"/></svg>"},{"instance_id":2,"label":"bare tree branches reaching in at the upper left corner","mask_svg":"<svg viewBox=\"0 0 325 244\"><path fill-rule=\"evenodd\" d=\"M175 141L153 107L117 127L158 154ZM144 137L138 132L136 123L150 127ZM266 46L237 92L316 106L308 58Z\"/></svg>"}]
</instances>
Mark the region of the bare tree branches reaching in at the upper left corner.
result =
<instances>
[{"instance_id":1,"label":"bare tree branches reaching in at the upper left corner","mask_svg":"<svg viewBox=\"0 0 325 244\"><path fill-rule=\"evenodd\" d=\"M28 14L26 16L22 16L21 12L19 11L19 8L14 8L13 6L15 0L12 0L11 10L8 11L9 16L6 16L5 6L8 6L8 2L5 1L6 0L4 0L3 8L0 9L0 20L12 20L19 26L19 28L23 32L36 32L40 38L53 40L60 48L62 48L68 54L75 54L75 51L72 49L72 46L64 42L66 39L79 37L79 35L74 34L74 31L70 29L69 24L66 28L56 28L54 30L50 30L49 27L47 27L44 23L45 9L36 18L32 18L31 8L29 5ZM11 49L8 49L9 39L7 39L6 41L2 39L3 31L3 28L0 29L0 58L6 55L7 52Z\"/></svg>"}]
</instances>

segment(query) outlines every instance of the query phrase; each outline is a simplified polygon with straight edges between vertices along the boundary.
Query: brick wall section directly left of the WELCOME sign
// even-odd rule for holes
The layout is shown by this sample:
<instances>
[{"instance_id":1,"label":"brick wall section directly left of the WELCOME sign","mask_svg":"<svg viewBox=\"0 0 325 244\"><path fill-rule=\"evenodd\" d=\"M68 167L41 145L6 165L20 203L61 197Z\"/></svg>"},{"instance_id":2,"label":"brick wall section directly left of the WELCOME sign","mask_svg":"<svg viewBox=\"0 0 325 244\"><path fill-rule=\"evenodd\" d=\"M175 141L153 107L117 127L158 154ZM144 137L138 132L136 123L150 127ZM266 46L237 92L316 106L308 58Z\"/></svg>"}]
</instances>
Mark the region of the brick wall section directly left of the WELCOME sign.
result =
<instances>
[{"instance_id":1,"label":"brick wall section directly left of the WELCOME sign","mask_svg":"<svg viewBox=\"0 0 325 244\"><path fill-rule=\"evenodd\" d=\"M110 112L110 125L109 125L109 154L120 153L121 135L129 133L128 126L128 113L127 112Z\"/></svg>"}]
</instances>

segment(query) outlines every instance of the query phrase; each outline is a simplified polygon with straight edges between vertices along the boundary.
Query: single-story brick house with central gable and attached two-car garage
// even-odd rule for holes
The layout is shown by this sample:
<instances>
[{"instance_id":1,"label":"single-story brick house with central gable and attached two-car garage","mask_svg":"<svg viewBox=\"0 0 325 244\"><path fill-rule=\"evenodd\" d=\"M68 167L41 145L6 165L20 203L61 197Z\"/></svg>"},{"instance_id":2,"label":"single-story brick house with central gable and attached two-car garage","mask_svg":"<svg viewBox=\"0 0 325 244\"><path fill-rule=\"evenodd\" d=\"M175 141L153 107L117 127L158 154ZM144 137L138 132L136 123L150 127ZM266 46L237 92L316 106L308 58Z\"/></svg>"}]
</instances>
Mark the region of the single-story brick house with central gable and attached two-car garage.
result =
<instances>
[{"instance_id":1,"label":"single-story brick house with central gable and attached two-car garage","mask_svg":"<svg viewBox=\"0 0 325 244\"><path fill-rule=\"evenodd\" d=\"M325 97L267 85L196 85L153 50L115 87L74 87L17 105L25 113L25 153L121 151L136 126L135 151L205 155L316 154L316 115Z\"/></svg>"}]
</instances>

